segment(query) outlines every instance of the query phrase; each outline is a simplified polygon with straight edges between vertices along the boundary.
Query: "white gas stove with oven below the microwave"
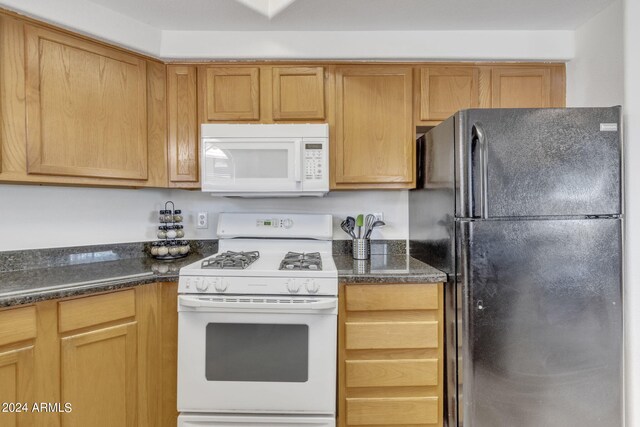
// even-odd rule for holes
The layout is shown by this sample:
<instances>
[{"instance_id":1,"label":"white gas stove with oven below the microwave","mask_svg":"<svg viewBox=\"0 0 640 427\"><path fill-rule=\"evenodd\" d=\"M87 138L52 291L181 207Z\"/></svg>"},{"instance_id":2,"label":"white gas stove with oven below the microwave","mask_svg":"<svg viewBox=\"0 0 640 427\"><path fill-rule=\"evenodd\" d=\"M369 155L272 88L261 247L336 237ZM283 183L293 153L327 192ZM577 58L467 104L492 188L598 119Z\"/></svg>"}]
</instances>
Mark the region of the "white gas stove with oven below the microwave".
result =
<instances>
[{"instance_id":1,"label":"white gas stove with oven below the microwave","mask_svg":"<svg viewBox=\"0 0 640 427\"><path fill-rule=\"evenodd\" d=\"M331 215L231 214L180 270L180 427L335 426Z\"/></svg>"}]
</instances>

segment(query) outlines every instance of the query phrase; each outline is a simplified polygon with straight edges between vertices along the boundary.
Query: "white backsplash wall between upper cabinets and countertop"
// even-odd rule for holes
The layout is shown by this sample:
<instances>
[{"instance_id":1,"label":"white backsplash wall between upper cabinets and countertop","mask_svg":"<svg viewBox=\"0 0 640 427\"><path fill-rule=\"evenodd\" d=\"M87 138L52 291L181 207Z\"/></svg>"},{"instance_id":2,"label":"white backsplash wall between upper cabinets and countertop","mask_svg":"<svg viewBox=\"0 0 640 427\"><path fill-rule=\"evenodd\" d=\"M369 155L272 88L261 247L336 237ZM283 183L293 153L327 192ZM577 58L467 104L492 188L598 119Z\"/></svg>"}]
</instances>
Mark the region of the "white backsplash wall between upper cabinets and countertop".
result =
<instances>
[{"instance_id":1,"label":"white backsplash wall between upper cabinets and countertop","mask_svg":"<svg viewBox=\"0 0 640 427\"><path fill-rule=\"evenodd\" d=\"M231 199L199 191L0 185L0 251L155 239L157 211L173 200L185 214L187 238L215 238L219 212L329 213L334 238L345 239L340 220L382 212L387 226L373 238L407 239L407 191L340 191L324 198ZM195 228L197 212L209 229Z\"/></svg>"}]
</instances>

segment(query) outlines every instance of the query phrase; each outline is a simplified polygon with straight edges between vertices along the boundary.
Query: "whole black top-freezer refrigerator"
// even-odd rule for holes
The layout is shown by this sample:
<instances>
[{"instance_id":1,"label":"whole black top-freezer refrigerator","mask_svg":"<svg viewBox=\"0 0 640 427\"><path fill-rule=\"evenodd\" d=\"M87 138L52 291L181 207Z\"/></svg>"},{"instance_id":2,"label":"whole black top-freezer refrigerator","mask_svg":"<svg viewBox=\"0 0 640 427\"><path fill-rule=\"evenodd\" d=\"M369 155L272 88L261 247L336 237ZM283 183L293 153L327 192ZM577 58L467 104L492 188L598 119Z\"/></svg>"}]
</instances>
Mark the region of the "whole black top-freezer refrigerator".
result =
<instances>
[{"instance_id":1,"label":"whole black top-freezer refrigerator","mask_svg":"<svg viewBox=\"0 0 640 427\"><path fill-rule=\"evenodd\" d=\"M449 426L622 426L621 110L472 109L418 144Z\"/></svg>"}]
</instances>

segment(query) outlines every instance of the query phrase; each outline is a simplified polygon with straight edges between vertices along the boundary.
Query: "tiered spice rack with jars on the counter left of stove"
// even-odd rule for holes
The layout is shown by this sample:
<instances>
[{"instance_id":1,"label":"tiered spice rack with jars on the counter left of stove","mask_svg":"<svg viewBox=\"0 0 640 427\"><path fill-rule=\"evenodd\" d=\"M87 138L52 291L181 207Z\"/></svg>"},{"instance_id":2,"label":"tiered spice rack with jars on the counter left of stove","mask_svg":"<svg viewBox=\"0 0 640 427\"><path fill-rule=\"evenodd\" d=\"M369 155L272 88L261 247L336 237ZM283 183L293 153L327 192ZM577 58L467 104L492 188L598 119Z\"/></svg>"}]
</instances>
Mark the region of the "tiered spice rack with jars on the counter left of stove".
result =
<instances>
[{"instance_id":1,"label":"tiered spice rack with jars on the counter left of stove","mask_svg":"<svg viewBox=\"0 0 640 427\"><path fill-rule=\"evenodd\" d=\"M184 226L181 224L184 216L175 204L168 200L164 209L160 210L158 220L158 241L151 244L151 256L156 259L178 259L189 255L191 247L184 238Z\"/></svg>"}]
</instances>

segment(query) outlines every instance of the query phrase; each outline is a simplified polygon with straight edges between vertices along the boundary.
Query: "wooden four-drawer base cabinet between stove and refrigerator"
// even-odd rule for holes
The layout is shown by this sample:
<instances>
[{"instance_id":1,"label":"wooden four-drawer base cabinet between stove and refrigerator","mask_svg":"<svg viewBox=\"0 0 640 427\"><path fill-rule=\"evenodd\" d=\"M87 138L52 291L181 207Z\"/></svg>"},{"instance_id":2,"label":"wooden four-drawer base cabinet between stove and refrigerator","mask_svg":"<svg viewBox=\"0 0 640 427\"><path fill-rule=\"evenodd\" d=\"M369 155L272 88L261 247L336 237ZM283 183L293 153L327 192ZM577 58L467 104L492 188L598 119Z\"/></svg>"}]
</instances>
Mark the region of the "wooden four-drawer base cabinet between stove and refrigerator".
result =
<instances>
[{"instance_id":1,"label":"wooden four-drawer base cabinet between stove and refrigerator","mask_svg":"<svg viewBox=\"0 0 640 427\"><path fill-rule=\"evenodd\" d=\"M442 426L442 284L340 289L338 426Z\"/></svg>"}]
</instances>

